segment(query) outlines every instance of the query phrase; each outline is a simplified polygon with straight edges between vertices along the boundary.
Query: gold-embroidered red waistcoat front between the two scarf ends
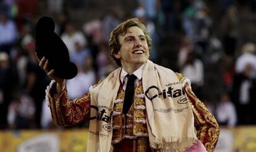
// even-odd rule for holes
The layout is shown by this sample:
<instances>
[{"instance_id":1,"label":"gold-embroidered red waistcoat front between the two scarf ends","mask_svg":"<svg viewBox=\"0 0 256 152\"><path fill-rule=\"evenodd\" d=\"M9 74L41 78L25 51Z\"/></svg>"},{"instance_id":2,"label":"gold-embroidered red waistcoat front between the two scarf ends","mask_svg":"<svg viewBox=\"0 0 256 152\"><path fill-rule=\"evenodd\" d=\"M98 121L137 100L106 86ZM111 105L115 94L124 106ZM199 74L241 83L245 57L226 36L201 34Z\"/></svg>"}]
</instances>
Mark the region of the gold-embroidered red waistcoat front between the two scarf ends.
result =
<instances>
[{"instance_id":1,"label":"gold-embroidered red waistcoat front between the two scarf ends","mask_svg":"<svg viewBox=\"0 0 256 152\"><path fill-rule=\"evenodd\" d=\"M122 126L126 124L126 126L122 126L119 129L113 129L113 138L112 141L121 142L122 138L137 138L134 140L134 148L135 151L147 151L147 137L137 137L135 134L139 135L147 135L147 124L144 122L146 120L146 111L141 109L136 109L136 106L144 107L145 106L145 98L143 98L143 88L142 84L139 83L140 86L135 88L135 97L134 103L130 107L127 116L121 118L121 115L113 116L113 126ZM124 91L119 89L120 93L117 94L117 99L124 98ZM137 97L139 95L139 97ZM114 111L122 111L123 103L114 103ZM136 122L139 121L139 122ZM118 131L117 131L118 130ZM140 139L139 139L140 138ZM144 139L146 140L144 140ZM142 140L143 139L143 140ZM146 142L146 143L145 143ZM113 142L116 143L116 142ZM135 146L136 145L136 146Z\"/></svg>"}]
</instances>

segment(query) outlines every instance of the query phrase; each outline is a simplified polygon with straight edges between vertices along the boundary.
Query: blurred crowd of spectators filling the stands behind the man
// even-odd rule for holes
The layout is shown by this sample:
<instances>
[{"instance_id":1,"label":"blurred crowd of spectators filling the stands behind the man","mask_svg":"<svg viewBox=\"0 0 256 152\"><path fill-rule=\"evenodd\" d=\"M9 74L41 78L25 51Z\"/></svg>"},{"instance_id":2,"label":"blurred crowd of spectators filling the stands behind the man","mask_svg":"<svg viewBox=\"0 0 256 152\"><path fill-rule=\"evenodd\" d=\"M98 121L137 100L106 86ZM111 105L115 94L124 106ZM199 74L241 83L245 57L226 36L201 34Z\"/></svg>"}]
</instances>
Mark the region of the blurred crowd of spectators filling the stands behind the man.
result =
<instances>
[{"instance_id":1,"label":"blurred crowd of spectators filling the stands behind the man","mask_svg":"<svg viewBox=\"0 0 256 152\"><path fill-rule=\"evenodd\" d=\"M70 99L116 68L108 56L109 34L123 20L138 17L153 40L150 60L189 78L220 125L256 124L255 0L109 4L115 6L100 7L93 0L0 0L0 129L56 127L45 101L51 79L35 57L36 22L44 15L54 19L55 32L79 69L67 80Z\"/></svg>"}]
</instances>

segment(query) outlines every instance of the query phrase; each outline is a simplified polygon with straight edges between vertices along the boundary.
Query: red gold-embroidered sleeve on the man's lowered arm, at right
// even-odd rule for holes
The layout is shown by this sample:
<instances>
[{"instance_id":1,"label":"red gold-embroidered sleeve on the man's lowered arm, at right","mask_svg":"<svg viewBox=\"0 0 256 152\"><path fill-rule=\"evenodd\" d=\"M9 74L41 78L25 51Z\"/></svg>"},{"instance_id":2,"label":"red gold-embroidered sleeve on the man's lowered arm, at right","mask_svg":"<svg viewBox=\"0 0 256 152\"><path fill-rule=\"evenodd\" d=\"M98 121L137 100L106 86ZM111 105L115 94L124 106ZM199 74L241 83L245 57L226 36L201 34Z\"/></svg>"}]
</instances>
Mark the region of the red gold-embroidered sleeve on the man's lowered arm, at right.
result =
<instances>
[{"instance_id":1,"label":"red gold-embroidered sleeve on the man's lowered arm, at right","mask_svg":"<svg viewBox=\"0 0 256 152\"><path fill-rule=\"evenodd\" d=\"M176 73L180 82L186 79L182 74ZM220 135L220 127L213 114L192 92L188 85L184 86L184 90L189 98L190 106L194 114L194 125L197 130L197 138L203 143L208 152L214 151Z\"/></svg>"}]
</instances>

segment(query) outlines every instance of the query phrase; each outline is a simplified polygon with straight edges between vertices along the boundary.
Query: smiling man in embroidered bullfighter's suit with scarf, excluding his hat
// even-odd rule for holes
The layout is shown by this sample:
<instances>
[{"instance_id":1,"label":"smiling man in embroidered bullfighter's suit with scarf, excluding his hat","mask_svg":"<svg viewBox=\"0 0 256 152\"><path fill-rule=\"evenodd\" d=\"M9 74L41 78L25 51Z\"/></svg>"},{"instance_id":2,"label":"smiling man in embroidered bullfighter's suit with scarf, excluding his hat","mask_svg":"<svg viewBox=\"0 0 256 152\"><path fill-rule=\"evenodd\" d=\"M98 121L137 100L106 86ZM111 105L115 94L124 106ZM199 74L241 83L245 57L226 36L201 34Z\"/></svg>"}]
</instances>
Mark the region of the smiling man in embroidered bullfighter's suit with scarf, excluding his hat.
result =
<instances>
[{"instance_id":1,"label":"smiling man in embroidered bullfighter's suit with scarf, excluding his hat","mask_svg":"<svg viewBox=\"0 0 256 152\"><path fill-rule=\"evenodd\" d=\"M43 58L41 68L54 79L46 92L54 124L90 119L87 151L213 151L220 133L216 119L195 97L189 79L148 60L150 48L137 18L122 22L109 39L119 68L72 101L66 80L48 71Z\"/></svg>"}]
</instances>

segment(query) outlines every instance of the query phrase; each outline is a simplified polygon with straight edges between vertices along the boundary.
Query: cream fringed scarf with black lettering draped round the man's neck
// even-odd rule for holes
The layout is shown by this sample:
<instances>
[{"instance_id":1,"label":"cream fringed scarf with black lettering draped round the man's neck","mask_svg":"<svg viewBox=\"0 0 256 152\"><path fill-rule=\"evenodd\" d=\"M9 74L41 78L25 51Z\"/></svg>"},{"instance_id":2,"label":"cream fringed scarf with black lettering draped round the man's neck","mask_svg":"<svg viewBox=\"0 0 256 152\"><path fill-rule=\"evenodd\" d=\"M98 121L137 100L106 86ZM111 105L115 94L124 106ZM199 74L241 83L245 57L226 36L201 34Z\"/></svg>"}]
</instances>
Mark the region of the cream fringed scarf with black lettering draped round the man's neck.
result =
<instances>
[{"instance_id":1,"label":"cream fringed scarf with black lettering draped round the man's neck","mask_svg":"<svg viewBox=\"0 0 256 152\"><path fill-rule=\"evenodd\" d=\"M91 120L87 151L109 151L114 100L121 68L91 90ZM142 70L150 146L161 151L184 151L197 137L189 100L176 74L147 61Z\"/></svg>"}]
</instances>

